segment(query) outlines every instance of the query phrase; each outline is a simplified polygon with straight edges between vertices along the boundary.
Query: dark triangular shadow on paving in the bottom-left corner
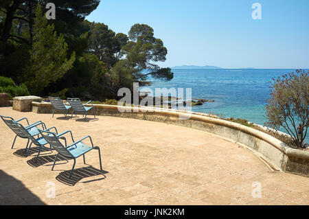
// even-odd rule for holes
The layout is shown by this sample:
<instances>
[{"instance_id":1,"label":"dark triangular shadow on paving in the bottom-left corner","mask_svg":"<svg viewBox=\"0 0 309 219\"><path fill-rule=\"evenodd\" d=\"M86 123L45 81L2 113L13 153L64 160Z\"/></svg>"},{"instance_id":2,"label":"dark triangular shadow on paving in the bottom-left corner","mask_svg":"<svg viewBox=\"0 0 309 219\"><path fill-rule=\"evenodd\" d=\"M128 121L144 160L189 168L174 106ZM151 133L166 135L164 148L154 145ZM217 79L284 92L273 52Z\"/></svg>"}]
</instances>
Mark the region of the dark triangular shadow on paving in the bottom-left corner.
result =
<instances>
[{"instance_id":1,"label":"dark triangular shadow on paving in the bottom-left corner","mask_svg":"<svg viewBox=\"0 0 309 219\"><path fill-rule=\"evenodd\" d=\"M0 205L45 205L14 176L0 170Z\"/></svg>"}]
</instances>

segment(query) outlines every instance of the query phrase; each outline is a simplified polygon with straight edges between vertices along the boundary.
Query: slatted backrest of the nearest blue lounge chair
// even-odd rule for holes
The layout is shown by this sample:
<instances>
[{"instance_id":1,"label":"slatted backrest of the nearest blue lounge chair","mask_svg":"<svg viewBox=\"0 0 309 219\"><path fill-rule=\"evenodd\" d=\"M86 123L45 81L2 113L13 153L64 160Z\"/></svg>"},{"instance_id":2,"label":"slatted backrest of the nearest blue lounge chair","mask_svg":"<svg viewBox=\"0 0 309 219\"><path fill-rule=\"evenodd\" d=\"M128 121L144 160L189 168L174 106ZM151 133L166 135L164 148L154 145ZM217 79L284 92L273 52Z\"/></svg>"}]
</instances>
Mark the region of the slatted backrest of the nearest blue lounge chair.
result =
<instances>
[{"instance_id":1,"label":"slatted backrest of the nearest blue lounge chair","mask_svg":"<svg viewBox=\"0 0 309 219\"><path fill-rule=\"evenodd\" d=\"M72 154L63 146L63 144L59 141L58 137L54 132L49 132L45 130L38 129L43 138L47 141L47 143L52 146L59 154L65 157L73 157Z\"/></svg>"}]
</instances>

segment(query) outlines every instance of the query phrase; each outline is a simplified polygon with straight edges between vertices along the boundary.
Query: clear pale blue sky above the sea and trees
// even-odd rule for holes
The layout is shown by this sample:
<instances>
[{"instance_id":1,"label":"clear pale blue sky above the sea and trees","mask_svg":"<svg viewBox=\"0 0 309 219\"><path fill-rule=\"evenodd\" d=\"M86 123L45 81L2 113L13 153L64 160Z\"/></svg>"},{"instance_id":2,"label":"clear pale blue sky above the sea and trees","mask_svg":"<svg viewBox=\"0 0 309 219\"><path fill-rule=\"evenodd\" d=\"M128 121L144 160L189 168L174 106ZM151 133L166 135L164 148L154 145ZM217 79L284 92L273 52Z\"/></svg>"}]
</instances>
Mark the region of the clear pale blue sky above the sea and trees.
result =
<instances>
[{"instance_id":1,"label":"clear pale blue sky above the sea and trees","mask_svg":"<svg viewBox=\"0 0 309 219\"><path fill-rule=\"evenodd\" d=\"M161 67L309 68L308 0L101 0L87 19L124 34L150 25L168 48Z\"/></svg>"}]
</instances>

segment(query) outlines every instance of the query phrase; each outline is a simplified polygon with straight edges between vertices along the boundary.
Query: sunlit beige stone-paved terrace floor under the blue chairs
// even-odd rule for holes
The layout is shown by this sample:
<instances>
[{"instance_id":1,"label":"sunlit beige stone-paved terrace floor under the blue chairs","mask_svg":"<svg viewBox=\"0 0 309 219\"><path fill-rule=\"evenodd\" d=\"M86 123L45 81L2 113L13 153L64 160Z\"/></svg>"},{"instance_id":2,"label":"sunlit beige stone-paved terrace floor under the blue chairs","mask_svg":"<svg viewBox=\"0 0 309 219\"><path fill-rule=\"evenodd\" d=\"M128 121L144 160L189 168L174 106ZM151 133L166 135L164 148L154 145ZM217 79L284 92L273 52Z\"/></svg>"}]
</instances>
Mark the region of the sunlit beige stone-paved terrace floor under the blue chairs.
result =
<instances>
[{"instance_id":1,"label":"sunlit beige stone-paved terrace floor under the blue chairs","mask_svg":"<svg viewBox=\"0 0 309 219\"><path fill-rule=\"evenodd\" d=\"M46 150L35 164L37 148L25 157L26 140L0 121L1 205L308 205L309 178L271 172L254 154L206 132L158 122L99 116L19 113L0 108L0 115L30 122L42 120L58 131L72 130L76 139L91 135L100 146L104 173L98 170L98 151L76 161L58 161ZM91 117L91 116L89 116ZM259 182L254 184L254 182ZM52 186L55 186L55 197ZM253 189L261 185L261 198Z\"/></svg>"}]
</instances>

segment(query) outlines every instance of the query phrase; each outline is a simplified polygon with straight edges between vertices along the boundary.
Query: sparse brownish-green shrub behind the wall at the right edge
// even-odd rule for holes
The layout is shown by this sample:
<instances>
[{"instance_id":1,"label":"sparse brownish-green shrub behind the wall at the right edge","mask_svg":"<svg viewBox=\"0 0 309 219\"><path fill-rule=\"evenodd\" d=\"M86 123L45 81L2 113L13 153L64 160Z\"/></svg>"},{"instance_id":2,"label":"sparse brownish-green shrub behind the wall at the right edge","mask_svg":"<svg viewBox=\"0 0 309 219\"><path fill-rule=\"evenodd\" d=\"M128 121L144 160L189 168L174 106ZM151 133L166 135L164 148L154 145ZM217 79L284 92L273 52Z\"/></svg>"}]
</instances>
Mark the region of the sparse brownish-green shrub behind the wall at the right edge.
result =
<instances>
[{"instance_id":1,"label":"sparse brownish-green shrub behind the wall at the right edge","mask_svg":"<svg viewBox=\"0 0 309 219\"><path fill-rule=\"evenodd\" d=\"M293 137L295 146L302 147L309 126L309 71L297 70L274 78L271 99L266 106L266 126L282 127ZM299 135L297 126L301 124Z\"/></svg>"}]
</instances>

